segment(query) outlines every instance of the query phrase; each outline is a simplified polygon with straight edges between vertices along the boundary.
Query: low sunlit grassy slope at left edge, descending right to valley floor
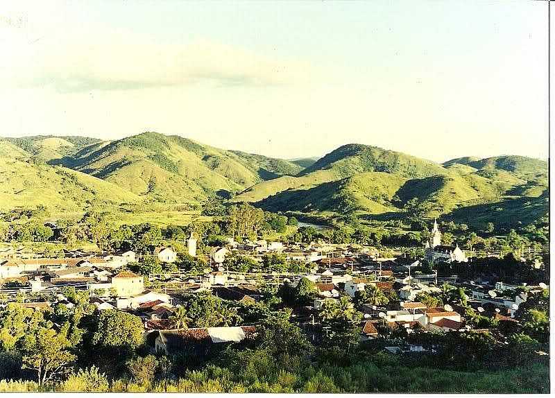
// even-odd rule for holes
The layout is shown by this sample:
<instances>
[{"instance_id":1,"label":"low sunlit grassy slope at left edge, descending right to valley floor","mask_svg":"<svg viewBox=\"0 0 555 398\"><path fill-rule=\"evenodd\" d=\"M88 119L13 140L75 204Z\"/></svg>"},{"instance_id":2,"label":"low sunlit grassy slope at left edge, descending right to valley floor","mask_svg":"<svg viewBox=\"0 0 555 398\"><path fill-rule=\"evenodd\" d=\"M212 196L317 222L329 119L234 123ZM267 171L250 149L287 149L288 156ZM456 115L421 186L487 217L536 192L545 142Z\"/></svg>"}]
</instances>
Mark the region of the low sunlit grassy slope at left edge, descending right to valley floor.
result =
<instances>
[{"instance_id":1,"label":"low sunlit grassy slope at left edge, descending right to valley floor","mask_svg":"<svg viewBox=\"0 0 555 398\"><path fill-rule=\"evenodd\" d=\"M118 205L139 197L115 184L61 166L0 157L0 209L44 205L53 212L83 211L94 203Z\"/></svg>"}]
</instances>

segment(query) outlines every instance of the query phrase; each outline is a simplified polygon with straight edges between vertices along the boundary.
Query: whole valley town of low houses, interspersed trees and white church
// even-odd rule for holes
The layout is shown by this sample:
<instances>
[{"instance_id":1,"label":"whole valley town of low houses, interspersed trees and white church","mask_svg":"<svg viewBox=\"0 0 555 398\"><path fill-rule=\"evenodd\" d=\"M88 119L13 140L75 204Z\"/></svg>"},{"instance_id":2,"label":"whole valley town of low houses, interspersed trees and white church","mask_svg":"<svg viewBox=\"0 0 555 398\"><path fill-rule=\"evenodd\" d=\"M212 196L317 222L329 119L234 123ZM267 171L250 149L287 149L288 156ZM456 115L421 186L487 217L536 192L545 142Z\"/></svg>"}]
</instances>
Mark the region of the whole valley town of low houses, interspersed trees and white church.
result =
<instances>
[{"instance_id":1,"label":"whole valley town of low houses, interspersed trees and white church","mask_svg":"<svg viewBox=\"0 0 555 398\"><path fill-rule=\"evenodd\" d=\"M297 228L317 236L314 227ZM479 336L495 352L513 344L515 331L530 329L525 325L535 315L528 332L533 336L519 336L536 341L531 355L547 356L538 343L549 336L538 318L538 297L545 302L549 290L548 279L540 282L545 272L539 257L511 254L507 262L520 270L510 275L498 255L477 259L458 243L442 244L437 220L422 248L413 250L416 256L321 238L236 241L225 235L200 252L194 227L180 236L173 245L139 252L62 250L51 258L6 245L0 248L5 316L17 306L54 318L65 314L62 319L71 319L78 307L97 317L110 314L112 322L117 313L126 314L137 320L149 355L193 352L203 363L211 352L266 334L262 325L275 316L268 315L272 311L281 311L316 347L350 352L352 345L366 345L397 356L437 356L445 336L463 345ZM499 270L484 260L497 261Z\"/></svg>"}]
</instances>

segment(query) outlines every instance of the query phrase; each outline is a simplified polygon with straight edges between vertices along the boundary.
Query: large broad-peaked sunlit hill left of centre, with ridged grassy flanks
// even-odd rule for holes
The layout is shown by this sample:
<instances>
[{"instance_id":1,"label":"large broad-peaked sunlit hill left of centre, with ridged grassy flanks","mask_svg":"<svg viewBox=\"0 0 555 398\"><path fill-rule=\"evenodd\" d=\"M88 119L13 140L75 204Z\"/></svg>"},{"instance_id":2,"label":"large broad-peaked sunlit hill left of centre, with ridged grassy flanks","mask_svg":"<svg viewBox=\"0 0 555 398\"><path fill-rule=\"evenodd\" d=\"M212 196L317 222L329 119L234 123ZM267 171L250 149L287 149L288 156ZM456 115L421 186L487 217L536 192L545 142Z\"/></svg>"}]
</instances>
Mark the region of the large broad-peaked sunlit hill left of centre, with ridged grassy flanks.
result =
<instances>
[{"instance_id":1,"label":"large broad-peaked sunlit hill left of centre, with ridged grassy flanks","mask_svg":"<svg viewBox=\"0 0 555 398\"><path fill-rule=\"evenodd\" d=\"M68 157L64 164L162 202L229 196L282 173L300 171L282 159L223 150L156 132L94 144Z\"/></svg>"}]
</instances>

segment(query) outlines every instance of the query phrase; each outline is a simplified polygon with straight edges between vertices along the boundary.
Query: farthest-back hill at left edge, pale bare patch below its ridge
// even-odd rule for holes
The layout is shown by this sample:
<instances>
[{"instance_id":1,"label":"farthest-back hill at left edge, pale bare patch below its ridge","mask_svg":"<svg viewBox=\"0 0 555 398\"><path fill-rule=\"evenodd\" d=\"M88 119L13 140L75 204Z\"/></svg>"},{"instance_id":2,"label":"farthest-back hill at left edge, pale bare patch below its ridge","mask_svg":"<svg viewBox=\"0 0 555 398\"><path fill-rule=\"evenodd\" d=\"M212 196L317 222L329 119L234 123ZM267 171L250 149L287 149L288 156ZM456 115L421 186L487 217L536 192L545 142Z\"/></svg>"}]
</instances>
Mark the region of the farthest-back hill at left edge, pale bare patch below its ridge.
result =
<instances>
[{"instance_id":1,"label":"farthest-back hill at left edge, pale bare patch below its ridge","mask_svg":"<svg viewBox=\"0 0 555 398\"><path fill-rule=\"evenodd\" d=\"M100 142L89 137L36 135L31 137L4 138L27 153L51 161L62 157L73 156L79 150Z\"/></svg>"}]
</instances>

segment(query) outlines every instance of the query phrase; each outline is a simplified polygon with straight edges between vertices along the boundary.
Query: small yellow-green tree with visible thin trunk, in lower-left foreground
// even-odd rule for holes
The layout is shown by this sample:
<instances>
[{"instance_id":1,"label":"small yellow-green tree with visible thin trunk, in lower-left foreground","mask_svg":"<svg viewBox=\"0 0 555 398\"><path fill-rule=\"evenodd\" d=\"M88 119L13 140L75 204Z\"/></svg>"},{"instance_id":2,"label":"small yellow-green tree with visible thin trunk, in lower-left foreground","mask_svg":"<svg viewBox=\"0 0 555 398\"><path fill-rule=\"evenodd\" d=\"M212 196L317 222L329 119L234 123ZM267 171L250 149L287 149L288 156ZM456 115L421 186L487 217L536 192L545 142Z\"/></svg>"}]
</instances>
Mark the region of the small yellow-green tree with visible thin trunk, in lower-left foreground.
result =
<instances>
[{"instance_id":1,"label":"small yellow-green tree with visible thin trunk, in lower-left foreground","mask_svg":"<svg viewBox=\"0 0 555 398\"><path fill-rule=\"evenodd\" d=\"M71 354L67 330L56 333L54 329L41 327L23 340L23 367L35 370L40 385L62 373L76 356Z\"/></svg>"}]
</instances>

